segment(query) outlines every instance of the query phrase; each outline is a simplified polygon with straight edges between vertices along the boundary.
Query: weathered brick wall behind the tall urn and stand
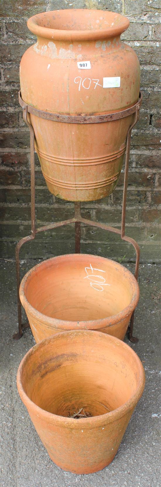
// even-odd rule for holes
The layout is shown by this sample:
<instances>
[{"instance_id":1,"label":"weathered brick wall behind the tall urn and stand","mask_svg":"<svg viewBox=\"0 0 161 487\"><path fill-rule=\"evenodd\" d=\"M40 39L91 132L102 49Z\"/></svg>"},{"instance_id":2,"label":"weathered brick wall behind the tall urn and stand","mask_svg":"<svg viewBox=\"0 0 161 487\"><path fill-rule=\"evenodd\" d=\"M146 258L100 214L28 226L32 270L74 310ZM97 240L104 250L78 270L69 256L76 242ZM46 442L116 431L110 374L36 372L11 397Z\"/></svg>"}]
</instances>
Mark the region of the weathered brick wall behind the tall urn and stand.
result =
<instances>
[{"instance_id":1,"label":"weathered brick wall behind the tall urn and stand","mask_svg":"<svg viewBox=\"0 0 161 487\"><path fill-rule=\"evenodd\" d=\"M132 132L126 233L141 247L141 262L159 259L159 201L161 173L160 135L160 0L2 0L1 17L1 251L15 258L16 242L30 232L30 151L29 131L18 105L19 62L35 37L26 21L35 13L60 8L99 8L126 15L130 20L122 39L134 48L141 64L143 105L140 121ZM87 218L120 226L123 190L119 184L109 198L82 203ZM40 225L73 215L73 204L53 197L36 159L36 218ZM21 257L46 258L74 251L74 227L66 226L41 234L25 244ZM81 229L81 251L112 257L119 262L135 258L133 247L119 237L93 227Z\"/></svg>"}]
</instances>

